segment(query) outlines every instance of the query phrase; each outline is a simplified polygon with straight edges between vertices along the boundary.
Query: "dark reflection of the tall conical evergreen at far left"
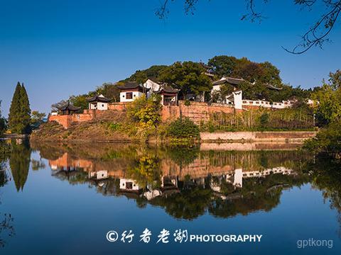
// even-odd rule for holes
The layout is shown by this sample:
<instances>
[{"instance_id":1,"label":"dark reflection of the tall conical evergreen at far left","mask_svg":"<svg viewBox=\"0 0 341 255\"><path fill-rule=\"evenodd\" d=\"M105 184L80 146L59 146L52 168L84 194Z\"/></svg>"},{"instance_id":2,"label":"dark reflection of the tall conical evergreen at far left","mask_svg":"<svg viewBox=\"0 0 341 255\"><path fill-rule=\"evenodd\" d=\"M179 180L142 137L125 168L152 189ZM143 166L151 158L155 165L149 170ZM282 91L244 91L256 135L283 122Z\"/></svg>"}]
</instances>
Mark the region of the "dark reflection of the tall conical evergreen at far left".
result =
<instances>
[{"instance_id":1,"label":"dark reflection of the tall conical evergreen at far left","mask_svg":"<svg viewBox=\"0 0 341 255\"><path fill-rule=\"evenodd\" d=\"M9 158L9 165L11 166L12 176L16 184L16 190L22 191L28 176L28 169L30 166L31 149L27 141L17 145L12 142L11 157Z\"/></svg>"}]
</instances>

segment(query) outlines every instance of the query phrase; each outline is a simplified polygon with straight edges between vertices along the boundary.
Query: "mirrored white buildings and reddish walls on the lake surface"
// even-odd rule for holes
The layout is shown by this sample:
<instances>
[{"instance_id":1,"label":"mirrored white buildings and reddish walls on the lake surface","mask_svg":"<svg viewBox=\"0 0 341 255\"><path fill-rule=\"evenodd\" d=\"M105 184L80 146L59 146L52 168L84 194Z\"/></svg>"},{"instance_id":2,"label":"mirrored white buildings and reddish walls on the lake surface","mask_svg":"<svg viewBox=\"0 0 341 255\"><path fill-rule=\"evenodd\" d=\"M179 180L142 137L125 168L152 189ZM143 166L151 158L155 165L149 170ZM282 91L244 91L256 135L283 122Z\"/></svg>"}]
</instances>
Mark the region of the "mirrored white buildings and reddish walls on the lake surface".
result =
<instances>
[{"instance_id":1,"label":"mirrored white buildings and reddish walls on the lake surface","mask_svg":"<svg viewBox=\"0 0 341 255\"><path fill-rule=\"evenodd\" d=\"M117 160L113 162L113 160ZM112 159L109 162L77 159L65 152L58 159L50 160L49 164L53 170L85 171L87 179L92 181L104 179L119 180L119 191L139 193L143 190L143 196L148 200L158 196L168 196L168 194L178 193L184 185L199 186L201 188L211 188L215 193L222 193L223 183L228 183L232 188L242 188L243 179L265 177L270 174L293 174L293 170L283 166L266 168L255 164L256 158L250 157L227 157L219 158L217 162L212 162L210 157L197 157L193 162L180 166L170 159L161 160L160 164L160 184L158 188L153 188L154 183L147 183L144 186L139 181L131 179L127 174L129 161ZM221 162L221 160L223 160ZM237 163L238 162L238 163ZM156 181L156 180L154 180Z\"/></svg>"}]
</instances>

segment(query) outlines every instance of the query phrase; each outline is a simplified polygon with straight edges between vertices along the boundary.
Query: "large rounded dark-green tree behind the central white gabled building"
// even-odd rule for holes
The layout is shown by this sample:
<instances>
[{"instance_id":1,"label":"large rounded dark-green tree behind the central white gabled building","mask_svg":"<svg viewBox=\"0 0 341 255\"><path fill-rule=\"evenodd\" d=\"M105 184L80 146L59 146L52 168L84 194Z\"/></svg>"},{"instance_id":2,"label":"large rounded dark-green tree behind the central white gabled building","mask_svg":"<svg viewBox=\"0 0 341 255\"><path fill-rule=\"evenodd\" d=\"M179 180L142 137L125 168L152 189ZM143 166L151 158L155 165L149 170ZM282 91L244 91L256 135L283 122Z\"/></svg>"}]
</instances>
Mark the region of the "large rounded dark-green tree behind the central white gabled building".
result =
<instances>
[{"instance_id":1,"label":"large rounded dark-green tree behind the central white gabled building","mask_svg":"<svg viewBox=\"0 0 341 255\"><path fill-rule=\"evenodd\" d=\"M160 79L180 89L180 93L185 98L188 94L200 95L212 89L211 81L204 72L205 69L200 63L175 62L163 69Z\"/></svg>"}]
</instances>

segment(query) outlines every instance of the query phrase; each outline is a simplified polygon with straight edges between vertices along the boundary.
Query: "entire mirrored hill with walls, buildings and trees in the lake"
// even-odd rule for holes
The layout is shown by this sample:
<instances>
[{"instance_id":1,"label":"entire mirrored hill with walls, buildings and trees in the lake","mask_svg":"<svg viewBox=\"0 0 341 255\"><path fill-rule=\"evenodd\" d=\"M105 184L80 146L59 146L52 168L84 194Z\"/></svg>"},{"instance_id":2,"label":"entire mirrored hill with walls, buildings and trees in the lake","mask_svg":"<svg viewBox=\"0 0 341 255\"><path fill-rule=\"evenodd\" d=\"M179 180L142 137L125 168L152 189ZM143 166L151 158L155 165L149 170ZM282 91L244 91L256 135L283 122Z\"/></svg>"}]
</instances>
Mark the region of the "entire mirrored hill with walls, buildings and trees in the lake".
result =
<instances>
[{"instance_id":1,"label":"entire mirrored hill with walls, buildings and trees in the lake","mask_svg":"<svg viewBox=\"0 0 341 255\"><path fill-rule=\"evenodd\" d=\"M43 145L52 175L99 193L134 198L192 220L271 210L286 188L310 180L296 151L200 151L133 145Z\"/></svg>"}]
</instances>

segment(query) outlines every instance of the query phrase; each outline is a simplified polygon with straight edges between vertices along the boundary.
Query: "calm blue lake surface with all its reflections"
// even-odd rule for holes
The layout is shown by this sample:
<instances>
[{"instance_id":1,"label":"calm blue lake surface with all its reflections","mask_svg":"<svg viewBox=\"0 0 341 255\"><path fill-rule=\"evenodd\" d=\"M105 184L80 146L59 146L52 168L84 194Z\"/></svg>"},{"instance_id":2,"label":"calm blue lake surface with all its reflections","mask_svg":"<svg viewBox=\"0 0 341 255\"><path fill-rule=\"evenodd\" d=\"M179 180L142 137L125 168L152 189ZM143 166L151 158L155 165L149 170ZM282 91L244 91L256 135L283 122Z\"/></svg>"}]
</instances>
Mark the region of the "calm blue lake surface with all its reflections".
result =
<instances>
[{"instance_id":1,"label":"calm blue lake surface with all its reflections","mask_svg":"<svg viewBox=\"0 0 341 255\"><path fill-rule=\"evenodd\" d=\"M288 145L231 146L13 145L0 172L0 253L340 254L337 166L311 168L310 155ZM146 228L148 244L139 242ZM156 244L163 228L169 242ZM177 229L263 236L178 243ZM135 236L108 242L109 230ZM311 238L332 249L298 249Z\"/></svg>"}]
</instances>

